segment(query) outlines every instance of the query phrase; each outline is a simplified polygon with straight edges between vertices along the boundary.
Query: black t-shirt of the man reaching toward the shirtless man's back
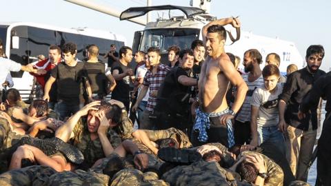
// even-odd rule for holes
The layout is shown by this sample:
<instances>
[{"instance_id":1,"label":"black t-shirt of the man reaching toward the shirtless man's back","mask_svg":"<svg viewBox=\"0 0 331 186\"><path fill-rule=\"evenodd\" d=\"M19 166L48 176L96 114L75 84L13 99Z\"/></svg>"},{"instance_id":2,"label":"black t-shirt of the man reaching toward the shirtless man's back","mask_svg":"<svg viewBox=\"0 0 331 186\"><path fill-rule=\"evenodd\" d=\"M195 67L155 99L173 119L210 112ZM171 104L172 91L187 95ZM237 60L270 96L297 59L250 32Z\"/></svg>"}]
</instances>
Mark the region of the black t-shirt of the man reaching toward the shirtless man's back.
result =
<instances>
[{"instance_id":1,"label":"black t-shirt of the man reaching toward the shirtless man's back","mask_svg":"<svg viewBox=\"0 0 331 186\"><path fill-rule=\"evenodd\" d=\"M190 87L178 82L179 76L188 76L183 68L172 68L159 88L157 110L168 108L168 111L181 113L188 106Z\"/></svg>"}]
</instances>

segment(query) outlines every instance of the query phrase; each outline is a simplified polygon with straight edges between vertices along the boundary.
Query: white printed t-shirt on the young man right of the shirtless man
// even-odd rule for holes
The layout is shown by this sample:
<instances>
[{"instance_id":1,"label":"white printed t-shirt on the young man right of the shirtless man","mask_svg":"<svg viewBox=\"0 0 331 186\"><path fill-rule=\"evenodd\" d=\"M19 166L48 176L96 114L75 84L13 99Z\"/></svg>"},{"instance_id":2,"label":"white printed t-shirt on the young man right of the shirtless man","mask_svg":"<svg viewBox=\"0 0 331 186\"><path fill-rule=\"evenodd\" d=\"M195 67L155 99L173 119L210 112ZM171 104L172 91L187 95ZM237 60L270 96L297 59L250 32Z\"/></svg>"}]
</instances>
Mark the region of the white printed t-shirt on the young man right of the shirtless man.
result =
<instances>
[{"instance_id":1,"label":"white printed t-shirt on the young man right of the shirtless man","mask_svg":"<svg viewBox=\"0 0 331 186\"><path fill-rule=\"evenodd\" d=\"M265 89L264 85L254 91L251 105L259 107L257 125L261 127L278 125L278 97L281 92L283 92L283 86L281 86L281 83L277 84L277 90L272 94Z\"/></svg>"}]
</instances>

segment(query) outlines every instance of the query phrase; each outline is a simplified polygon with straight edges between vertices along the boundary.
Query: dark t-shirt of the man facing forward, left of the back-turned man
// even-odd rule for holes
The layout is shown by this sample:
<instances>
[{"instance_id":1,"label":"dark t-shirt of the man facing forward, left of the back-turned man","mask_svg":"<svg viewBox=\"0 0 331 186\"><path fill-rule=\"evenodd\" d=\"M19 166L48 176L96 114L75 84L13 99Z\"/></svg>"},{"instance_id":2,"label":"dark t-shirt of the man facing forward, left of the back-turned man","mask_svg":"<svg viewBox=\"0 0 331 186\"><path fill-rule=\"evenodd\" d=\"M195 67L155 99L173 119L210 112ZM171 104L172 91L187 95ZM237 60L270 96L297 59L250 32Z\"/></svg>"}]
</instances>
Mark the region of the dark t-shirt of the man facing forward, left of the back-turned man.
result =
<instances>
[{"instance_id":1,"label":"dark t-shirt of the man facing forward, left of the back-turned man","mask_svg":"<svg viewBox=\"0 0 331 186\"><path fill-rule=\"evenodd\" d=\"M88 77L88 73L82 62L75 66L66 63L59 63L51 72L52 77L57 79L58 99L63 100L68 105L78 105L83 95L83 77Z\"/></svg>"}]
</instances>

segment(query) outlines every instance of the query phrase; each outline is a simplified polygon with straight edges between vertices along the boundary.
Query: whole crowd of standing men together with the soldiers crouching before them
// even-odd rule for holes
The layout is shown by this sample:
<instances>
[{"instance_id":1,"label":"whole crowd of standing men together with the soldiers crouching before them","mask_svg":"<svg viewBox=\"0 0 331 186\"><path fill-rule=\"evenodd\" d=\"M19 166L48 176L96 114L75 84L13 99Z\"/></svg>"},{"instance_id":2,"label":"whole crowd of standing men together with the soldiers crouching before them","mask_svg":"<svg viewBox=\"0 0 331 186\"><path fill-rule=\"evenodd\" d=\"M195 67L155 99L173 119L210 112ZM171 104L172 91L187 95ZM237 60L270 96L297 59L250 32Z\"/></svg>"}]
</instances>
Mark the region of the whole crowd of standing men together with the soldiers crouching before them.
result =
<instances>
[{"instance_id":1,"label":"whole crowd of standing men together with the soldiers crouching before them","mask_svg":"<svg viewBox=\"0 0 331 186\"><path fill-rule=\"evenodd\" d=\"M190 49L168 48L168 61L159 48L133 56L111 45L103 63L89 45L80 62L66 43L23 66L1 45L3 85L23 70L42 94L27 104L18 90L3 92L0 185L308 185L321 98L317 185L331 185L323 46L310 45L307 65L289 65L285 76L277 53L261 67L261 53L249 49L241 72L241 58L224 50L228 24L240 28L236 18L212 21Z\"/></svg>"}]
</instances>

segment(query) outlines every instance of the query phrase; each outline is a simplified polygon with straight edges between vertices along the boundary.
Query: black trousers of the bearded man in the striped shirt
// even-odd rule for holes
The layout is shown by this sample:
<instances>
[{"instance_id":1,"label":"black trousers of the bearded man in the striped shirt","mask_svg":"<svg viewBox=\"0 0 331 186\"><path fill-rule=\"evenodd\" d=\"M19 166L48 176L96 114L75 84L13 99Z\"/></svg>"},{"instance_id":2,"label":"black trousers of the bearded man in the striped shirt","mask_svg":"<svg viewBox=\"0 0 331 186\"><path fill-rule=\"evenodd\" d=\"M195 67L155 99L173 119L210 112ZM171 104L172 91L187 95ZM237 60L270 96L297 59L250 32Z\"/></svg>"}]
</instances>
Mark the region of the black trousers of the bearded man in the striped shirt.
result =
<instances>
[{"instance_id":1,"label":"black trousers of the bearded man in the striped shirt","mask_svg":"<svg viewBox=\"0 0 331 186\"><path fill-rule=\"evenodd\" d=\"M250 122L234 121L234 143L236 145L250 144Z\"/></svg>"}]
</instances>

